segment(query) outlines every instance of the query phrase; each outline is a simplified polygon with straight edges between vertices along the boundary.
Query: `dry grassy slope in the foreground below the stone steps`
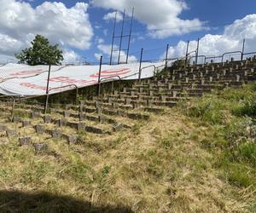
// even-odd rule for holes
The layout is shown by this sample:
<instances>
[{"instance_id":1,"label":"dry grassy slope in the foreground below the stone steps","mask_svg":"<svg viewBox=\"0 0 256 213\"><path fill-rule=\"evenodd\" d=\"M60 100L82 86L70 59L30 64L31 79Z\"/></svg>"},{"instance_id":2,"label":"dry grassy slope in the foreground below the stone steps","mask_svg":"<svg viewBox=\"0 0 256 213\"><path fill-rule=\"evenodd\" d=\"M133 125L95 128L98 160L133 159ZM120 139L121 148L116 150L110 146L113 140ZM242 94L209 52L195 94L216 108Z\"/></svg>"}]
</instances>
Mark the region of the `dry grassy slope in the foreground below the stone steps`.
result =
<instances>
[{"instance_id":1,"label":"dry grassy slope in the foreground below the stone steps","mask_svg":"<svg viewBox=\"0 0 256 213\"><path fill-rule=\"evenodd\" d=\"M14 138L0 147L0 210L256 211L255 91L180 103L115 135L81 133L80 145L49 139L40 154Z\"/></svg>"}]
</instances>

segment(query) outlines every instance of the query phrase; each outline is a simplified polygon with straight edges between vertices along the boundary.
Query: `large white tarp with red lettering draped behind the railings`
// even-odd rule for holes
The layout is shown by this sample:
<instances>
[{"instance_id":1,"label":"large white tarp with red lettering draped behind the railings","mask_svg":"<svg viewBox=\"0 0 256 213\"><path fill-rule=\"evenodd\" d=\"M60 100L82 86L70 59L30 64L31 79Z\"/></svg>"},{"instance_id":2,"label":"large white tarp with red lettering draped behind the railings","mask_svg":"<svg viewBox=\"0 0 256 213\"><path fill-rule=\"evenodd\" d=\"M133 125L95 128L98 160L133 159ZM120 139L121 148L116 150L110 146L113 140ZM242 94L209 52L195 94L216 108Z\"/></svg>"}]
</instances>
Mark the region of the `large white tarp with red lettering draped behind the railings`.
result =
<instances>
[{"instance_id":1,"label":"large white tarp with red lettering draped behind the railings","mask_svg":"<svg viewBox=\"0 0 256 213\"><path fill-rule=\"evenodd\" d=\"M165 62L143 63L141 78L154 76L154 67ZM101 79L137 79L139 63L123 65L102 65ZM26 66L7 64L0 66L0 94L3 95L45 95L49 66ZM49 94L64 90L90 86L98 83L99 66L52 66L49 78ZM67 86L67 87L65 87ZM64 87L64 88L63 88Z\"/></svg>"}]
</instances>

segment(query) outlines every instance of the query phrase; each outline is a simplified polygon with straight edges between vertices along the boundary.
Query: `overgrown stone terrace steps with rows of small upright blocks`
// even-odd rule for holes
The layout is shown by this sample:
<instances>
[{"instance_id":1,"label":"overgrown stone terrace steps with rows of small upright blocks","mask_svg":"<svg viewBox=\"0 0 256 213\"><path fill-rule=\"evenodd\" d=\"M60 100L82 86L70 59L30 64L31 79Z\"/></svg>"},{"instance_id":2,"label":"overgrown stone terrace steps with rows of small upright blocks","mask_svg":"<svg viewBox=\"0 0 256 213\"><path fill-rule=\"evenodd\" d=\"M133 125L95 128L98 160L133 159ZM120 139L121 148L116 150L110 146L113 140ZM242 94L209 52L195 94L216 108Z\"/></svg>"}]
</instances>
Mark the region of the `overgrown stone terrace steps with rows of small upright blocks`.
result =
<instances>
[{"instance_id":1,"label":"overgrown stone terrace steps with rows of small upright blocks","mask_svg":"<svg viewBox=\"0 0 256 213\"><path fill-rule=\"evenodd\" d=\"M79 105L52 107L44 114L44 107L17 103L15 116L9 121L11 102L0 104L0 143L18 139L20 146L34 144L44 149L40 141L56 138L68 143L79 142L83 134L113 134L131 129L137 120L148 120L150 112L164 112L178 101L210 93L212 89L241 87L256 80L256 60L232 61L217 64L169 69L154 78L137 81L131 88L113 91L100 98L80 101Z\"/></svg>"}]
</instances>

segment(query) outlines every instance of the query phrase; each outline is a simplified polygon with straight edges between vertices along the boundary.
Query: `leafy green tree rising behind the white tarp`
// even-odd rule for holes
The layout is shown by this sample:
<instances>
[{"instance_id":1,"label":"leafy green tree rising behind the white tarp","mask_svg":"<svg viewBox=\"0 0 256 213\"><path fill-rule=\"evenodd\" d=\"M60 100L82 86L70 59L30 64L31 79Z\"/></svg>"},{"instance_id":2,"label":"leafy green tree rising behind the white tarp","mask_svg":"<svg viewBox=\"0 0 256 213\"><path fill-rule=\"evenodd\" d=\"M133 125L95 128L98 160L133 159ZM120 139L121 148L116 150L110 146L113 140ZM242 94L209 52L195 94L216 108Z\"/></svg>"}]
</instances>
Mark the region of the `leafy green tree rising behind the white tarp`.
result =
<instances>
[{"instance_id":1,"label":"leafy green tree rising behind the white tarp","mask_svg":"<svg viewBox=\"0 0 256 213\"><path fill-rule=\"evenodd\" d=\"M31 48L23 49L20 54L15 55L19 63L31 66L61 64L63 55L62 51L58 49L58 44L51 45L49 40L41 35L37 35L31 44Z\"/></svg>"}]
</instances>

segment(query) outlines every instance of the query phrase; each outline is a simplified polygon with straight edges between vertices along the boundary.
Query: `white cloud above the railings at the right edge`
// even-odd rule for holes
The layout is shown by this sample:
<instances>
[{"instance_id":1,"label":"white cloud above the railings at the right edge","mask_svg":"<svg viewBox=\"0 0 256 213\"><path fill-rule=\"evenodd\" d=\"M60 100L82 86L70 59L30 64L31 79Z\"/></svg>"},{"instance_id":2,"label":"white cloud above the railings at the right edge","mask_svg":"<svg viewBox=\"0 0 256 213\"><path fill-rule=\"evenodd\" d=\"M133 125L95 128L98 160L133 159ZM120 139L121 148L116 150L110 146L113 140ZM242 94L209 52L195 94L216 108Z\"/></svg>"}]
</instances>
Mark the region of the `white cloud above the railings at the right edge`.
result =
<instances>
[{"instance_id":1,"label":"white cloud above the railings at the right edge","mask_svg":"<svg viewBox=\"0 0 256 213\"><path fill-rule=\"evenodd\" d=\"M200 40L199 55L222 55L224 52L241 51L242 40L246 38L245 52L256 51L256 14L249 14L236 20L224 28L220 35L207 34ZM181 57L186 53L187 43L180 41L177 46L170 47L169 57ZM197 41L189 43L189 52L196 49ZM233 55L238 57L238 55Z\"/></svg>"}]
</instances>

